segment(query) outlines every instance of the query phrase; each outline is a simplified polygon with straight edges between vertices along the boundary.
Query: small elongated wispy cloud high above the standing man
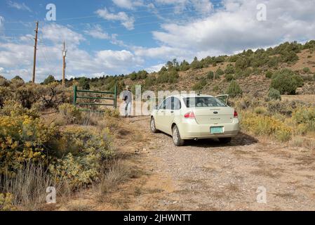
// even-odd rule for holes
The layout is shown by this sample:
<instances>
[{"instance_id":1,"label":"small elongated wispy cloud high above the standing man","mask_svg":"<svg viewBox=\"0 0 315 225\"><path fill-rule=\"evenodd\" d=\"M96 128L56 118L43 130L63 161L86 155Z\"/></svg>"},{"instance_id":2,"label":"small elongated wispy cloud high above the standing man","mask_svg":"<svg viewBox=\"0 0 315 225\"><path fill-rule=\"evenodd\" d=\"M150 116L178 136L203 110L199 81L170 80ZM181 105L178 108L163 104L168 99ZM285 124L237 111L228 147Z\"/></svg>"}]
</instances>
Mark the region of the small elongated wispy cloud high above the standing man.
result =
<instances>
[{"instance_id":1,"label":"small elongated wispy cloud high above the standing man","mask_svg":"<svg viewBox=\"0 0 315 225\"><path fill-rule=\"evenodd\" d=\"M119 12L119 13L110 13L107 8L99 9L96 11L96 13L100 16L100 18L103 18L105 20L114 20L114 21L120 21L121 25L123 27L126 27L127 30L133 30L134 29L134 23L135 18L129 17L125 12Z\"/></svg>"}]
</instances>

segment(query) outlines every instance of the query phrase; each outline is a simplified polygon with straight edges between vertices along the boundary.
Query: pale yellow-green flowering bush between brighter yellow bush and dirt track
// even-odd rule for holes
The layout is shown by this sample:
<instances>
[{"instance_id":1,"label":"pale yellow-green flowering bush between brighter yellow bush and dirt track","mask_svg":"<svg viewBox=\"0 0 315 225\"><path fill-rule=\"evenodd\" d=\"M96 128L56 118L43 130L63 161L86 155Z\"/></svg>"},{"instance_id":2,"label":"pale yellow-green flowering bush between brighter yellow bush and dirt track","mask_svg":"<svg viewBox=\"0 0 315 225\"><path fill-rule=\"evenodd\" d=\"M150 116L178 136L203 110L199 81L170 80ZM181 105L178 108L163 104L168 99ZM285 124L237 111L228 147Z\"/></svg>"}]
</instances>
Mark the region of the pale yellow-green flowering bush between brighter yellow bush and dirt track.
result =
<instances>
[{"instance_id":1,"label":"pale yellow-green flowering bush between brighter yellow bush and dirt track","mask_svg":"<svg viewBox=\"0 0 315 225\"><path fill-rule=\"evenodd\" d=\"M81 127L62 131L58 160L49 170L59 180L67 179L72 188L79 188L98 180L100 165L113 155L108 131L97 134Z\"/></svg>"}]
</instances>

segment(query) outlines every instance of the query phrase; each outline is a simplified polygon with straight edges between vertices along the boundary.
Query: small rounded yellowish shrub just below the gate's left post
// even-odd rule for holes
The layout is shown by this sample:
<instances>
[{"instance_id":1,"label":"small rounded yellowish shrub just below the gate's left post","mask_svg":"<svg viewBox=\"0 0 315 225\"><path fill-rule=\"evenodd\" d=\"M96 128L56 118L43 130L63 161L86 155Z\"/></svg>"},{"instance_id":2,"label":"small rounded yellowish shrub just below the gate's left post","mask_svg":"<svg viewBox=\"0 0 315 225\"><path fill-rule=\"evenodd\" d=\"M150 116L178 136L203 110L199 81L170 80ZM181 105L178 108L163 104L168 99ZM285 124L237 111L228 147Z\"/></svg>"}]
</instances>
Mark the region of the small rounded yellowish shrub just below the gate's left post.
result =
<instances>
[{"instance_id":1,"label":"small rounded yellowish shrub just below the gate's left post","mask_svg":"<svg viewBox=\"0 0 315 225\"><path fill-rule=\"evenodd\" d=\"M81 112L74 105L64 103L59 106L59 113L62 115L65 124L75 124L81 122Z\"/></svg>"}]
</instances>

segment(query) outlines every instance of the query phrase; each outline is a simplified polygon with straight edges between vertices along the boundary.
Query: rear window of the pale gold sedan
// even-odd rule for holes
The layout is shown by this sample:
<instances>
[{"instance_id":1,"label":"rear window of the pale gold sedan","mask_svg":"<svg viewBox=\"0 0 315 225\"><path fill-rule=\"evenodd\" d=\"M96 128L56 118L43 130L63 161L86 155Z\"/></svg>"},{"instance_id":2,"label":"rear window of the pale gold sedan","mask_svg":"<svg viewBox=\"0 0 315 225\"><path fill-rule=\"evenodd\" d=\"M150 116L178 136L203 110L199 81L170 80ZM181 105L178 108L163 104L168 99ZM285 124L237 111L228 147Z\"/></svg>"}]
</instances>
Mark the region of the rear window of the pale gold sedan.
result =
<instances>
[{"instance_id":1,"label":"rear window of the pale gold sedan","mask_svg":"<svg viewBox=\"0 0 315 225\"><path fill-rule=\"evenodd\" d=\"M184 98L187 108L227 107L222 101L213 97Z\"/></svg>"}]
</instances>

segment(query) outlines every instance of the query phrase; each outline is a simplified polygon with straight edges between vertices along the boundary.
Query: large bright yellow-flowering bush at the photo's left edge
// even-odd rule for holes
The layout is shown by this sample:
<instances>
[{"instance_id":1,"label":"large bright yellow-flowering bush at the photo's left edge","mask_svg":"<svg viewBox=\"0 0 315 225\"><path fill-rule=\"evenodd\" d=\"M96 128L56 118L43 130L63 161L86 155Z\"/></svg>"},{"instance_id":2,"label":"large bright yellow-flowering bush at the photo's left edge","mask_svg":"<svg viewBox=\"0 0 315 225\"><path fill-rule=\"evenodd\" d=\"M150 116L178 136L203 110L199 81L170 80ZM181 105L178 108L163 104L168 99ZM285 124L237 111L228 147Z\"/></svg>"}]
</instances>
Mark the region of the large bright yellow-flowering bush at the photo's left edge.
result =
<instances>
[{"instance_id":1,"label":"large bright yellow-flowering bush at the photo's left edge","mask_svg":"<svg viewBox=\"0 0 315 225\"><path fill-rule=\"evenodd\" d=\"M54 126L29 115L0 116L0 124L0 174L14 174L25 162L47 162L49 146L58 136Z\"/></svg>"}]
</instances>

